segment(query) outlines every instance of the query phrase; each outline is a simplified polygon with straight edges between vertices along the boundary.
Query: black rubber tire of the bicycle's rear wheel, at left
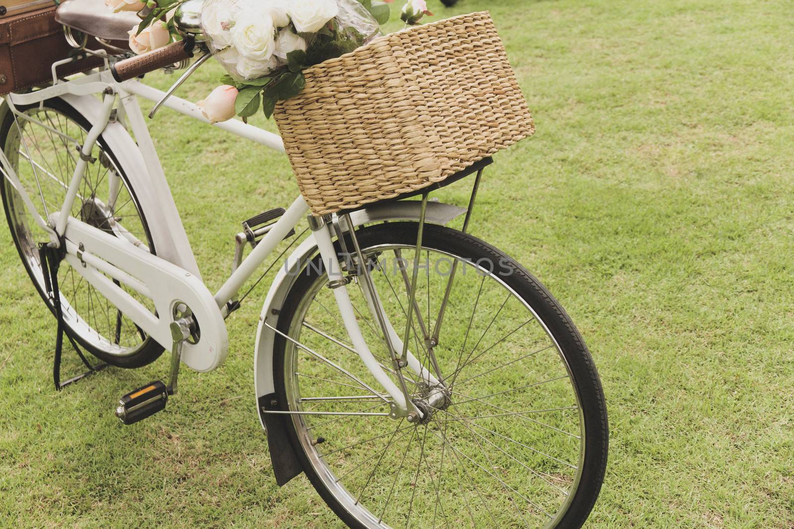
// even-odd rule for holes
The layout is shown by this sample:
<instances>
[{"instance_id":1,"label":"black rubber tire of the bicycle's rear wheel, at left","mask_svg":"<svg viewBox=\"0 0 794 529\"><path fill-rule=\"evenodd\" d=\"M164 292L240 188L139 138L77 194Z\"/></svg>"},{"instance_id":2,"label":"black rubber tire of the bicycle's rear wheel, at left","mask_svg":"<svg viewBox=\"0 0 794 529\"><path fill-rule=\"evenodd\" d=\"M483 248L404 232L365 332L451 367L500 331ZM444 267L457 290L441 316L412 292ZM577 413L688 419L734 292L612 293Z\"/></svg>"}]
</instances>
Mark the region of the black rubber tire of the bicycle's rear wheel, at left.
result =
<instances>
[{"instance_id":1,"label":"black rubber tire of the bicycle's rear wheel, at left","mask_svg":"<svg viewBox=\"0 0 794 529\"><path fill-rule=\"evenodd\" d=\"M25 112L26 110L36 108L37 106L38 105L18 105L17 110L20 112ZM60 98L48 99L47 101L44 102L44 108L52 109L56 112L62 113L64 116L68 117L71 121L74 121L75 124L79 125L85 130L91 128L91 124L89 123L89 121L85 117L83 117L83 115L80 114L71 105L67 104L67 102L64 102L63 99ZM2 121L2 125L0 125L0 148L4 150L6 149L6 142L8 140L9 133L13 126L14 126L13 113L9 111L6 113L5 119ZM99 147L102 148L102 151L104 151L104 153L108 155L108 157L113 161L114 167L118 169L118 174L120 174L121 179L124 182L125 188L129 192L130 197L132 197L137 212L140 215L142 228L145 231L145 236L147 237L146 242L148 243L148 247L152 252L152 254L154 254L155 247L152 243L152 237L148 230L148 223L146 221L144 214L141 212L140 208L137 207L137 197L135 195L135 190L133 190L133 187L129 182L129 178L125 174L124 167L121 167L121 165L118 163L117 157L114 155L113 151L110 150L110 147L106 144L106 142L102 139L102 136L99 137L97 143ZM6 189L6 186L9 187ZM42 300L44 300L44 304L47 305L50 312L52 312L52 314L55 315L55 307L48 300L48 297L44 293L44 289L41 288L39 281L37 280L36 276L33 274L33 270L31 269L28 260L25 259L25 255L23 254L21 244L17 236L17 232L13 228L13 220L12 220L10 204L9 204L10 199L7 197L8 194L7 191L10 192L10 184L6 181L6 178L0 178L0 195L2 195L3 209L6 212L6 220L8 221L8 225L10 228L11 237L13 239L14 245L17 247L17 252L20 256L21 262L25 267L25 271L29 275L31 282L33 282L33 286L36 287L37 292L39 293ZM62 263L61 266L63 267L68 265L66 263ZM159 343L157 343L151 337L147 336L145 341L141 343L141 346L138 347L137 351L135 351L133 354L125 355L125 356L113 355L106 351L102 351L102 349L98 347L94 347L94 345L92 345L91 343L88 343L86 339L83 339L83 336L80 335L79 332L75 332L75 330L71 328L68 324L65 327L65 331L67 332L68 335L71 336L71 338L75 339L75 341L79 343L79 345L83 347L84 350L90 352L91 355L94 355L95 357L99 358L100 360L102 360L102 362L107 362L112 366L118 366L129 369L146 366L154 362L157 358L159 358L164 351L163 347L161 347Z\"/></svg>"}]
</instances>

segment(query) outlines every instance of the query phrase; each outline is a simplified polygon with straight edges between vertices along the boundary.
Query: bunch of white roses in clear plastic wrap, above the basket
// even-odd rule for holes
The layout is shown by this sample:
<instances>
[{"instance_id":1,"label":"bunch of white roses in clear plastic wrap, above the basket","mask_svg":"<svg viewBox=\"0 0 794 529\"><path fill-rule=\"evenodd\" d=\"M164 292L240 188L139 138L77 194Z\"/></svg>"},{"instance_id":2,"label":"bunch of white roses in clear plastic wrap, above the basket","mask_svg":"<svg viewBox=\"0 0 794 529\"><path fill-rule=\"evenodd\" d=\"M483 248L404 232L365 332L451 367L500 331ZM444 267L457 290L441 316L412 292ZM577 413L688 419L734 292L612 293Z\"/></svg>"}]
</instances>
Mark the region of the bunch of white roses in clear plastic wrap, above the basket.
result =
<instances>
[{"instance_id":1,"label":"bunch of white roses in clear plastic wrap, above the basket","mask_svg":"<svg viewBox=\"0 0 794 529\"><path fill-rule=\"evenodd\" d=\"M380 25L358 0L206 0L202 29L215 58L245 82L282 71L296 50L301 67L352 52Z\"/></svg>"}]
</instances>

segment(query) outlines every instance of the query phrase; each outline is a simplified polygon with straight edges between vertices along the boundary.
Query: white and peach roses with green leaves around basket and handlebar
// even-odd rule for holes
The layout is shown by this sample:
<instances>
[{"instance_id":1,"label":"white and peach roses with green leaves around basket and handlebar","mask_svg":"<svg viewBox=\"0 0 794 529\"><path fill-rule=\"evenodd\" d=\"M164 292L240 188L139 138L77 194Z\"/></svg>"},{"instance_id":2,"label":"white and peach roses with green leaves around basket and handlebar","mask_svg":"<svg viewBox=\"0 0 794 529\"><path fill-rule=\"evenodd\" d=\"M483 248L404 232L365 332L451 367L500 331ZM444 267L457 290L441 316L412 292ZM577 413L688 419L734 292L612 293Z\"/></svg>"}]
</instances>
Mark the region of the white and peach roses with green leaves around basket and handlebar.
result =
<instances>
[{"instance_id":1,"label":"white and peach roses with green leaves around basket and handlebar","mask_svg":"<svg viewBox=\"0 0 794 529\"><path fill-rule=\"evenodd\" d=\"M129 32L133 52L148 52L178 39L171 15L184 0L149 0L141 23ZM244 120L261 108L271 117L276 103L300 94L303 71L367 44L389 20L393 0L206 0L206 45L228 72L198 102L212 122ZM106 0L114 10L136 10L138 0ZM408 0L401 18L418 24L432 14L425 0Z\"/></svg>"}]
</instances>

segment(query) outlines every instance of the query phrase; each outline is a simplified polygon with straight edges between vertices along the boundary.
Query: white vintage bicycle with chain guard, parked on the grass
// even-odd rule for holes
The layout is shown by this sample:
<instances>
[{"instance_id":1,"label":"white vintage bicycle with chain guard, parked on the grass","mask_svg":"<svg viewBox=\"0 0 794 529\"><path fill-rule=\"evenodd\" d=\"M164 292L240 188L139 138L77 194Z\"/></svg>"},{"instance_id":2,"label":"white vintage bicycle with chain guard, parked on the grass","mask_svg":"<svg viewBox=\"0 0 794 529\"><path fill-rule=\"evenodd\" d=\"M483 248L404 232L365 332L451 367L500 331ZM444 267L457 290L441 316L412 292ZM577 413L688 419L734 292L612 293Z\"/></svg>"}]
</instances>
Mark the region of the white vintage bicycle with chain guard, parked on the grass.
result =
<instances>
[{"instance_id":1,"label":"white vintage bicycle with chain guard, parked on the grass","mask_svg":"<svg viewBox=\"0 0 794 529\"><path fill-rule=\"evenodd\" d=\"M163 409L180 366L222 364L225 319L278 252L254 381L279 485L306 473L349 527L580 527L605 472L603 392L561 305L468 234L492 160L400 200L318 215L299 196L251 217L235 238L232 273L212 293L137 101L156 102L152 115L164 107L208 123L173 95L210 56L198 8L176 14L185 40L114 56L84 48L86 35L126 38L95 3L71 0L61 21L102 66L60 79L54 63L48 86L5 98L0 194L25 270L75 350L122 368L171 351L168 382L122 397L119 419ZM139 79L193 53L200 58L167 93ZM212 126L284 151L279 136L242 121ZM430 199L468 175L465 207ZM402 200L410 196L418 199ZM448 226L456 219L460 230ZM62 345L59 332L59 388Z\"/></svg>"}]
</instances>

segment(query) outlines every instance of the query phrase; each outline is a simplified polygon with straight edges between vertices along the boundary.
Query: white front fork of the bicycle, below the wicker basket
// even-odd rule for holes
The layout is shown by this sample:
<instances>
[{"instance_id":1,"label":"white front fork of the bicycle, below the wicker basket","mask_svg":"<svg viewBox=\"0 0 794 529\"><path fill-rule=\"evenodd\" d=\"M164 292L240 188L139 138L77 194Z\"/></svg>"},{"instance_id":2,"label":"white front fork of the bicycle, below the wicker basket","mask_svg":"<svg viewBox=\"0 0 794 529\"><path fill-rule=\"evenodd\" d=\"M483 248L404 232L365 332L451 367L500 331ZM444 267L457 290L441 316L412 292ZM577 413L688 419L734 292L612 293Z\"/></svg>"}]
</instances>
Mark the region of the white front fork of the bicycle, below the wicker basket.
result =
<instances>
[{"instance_id":1,"label":"white front fork of the bicycle, below the wicker basket","mask_svg":"<svg viewBox=\"0 0 794 529\"><path fill-rule=\"evenodd\" d=\"M343 218L349 220L347 216ZM380 297L378 297L375 285L369 275L368 267L363 259L360 247L358 247L358 242L354 236L355 234L351 232L358 257L358 274L362 280L361 286L364 298L367 301L368 309L372 313L372 316L374 316L376 321L380 324L381 332L383 332L384 335L384 341L391 355L392 366L394 366L393 373L397 378L398 384L395 384L395 382L389 378L381 368L375 356L372 355L372 351L369 350L364 340L364 335L361 334L361 329L356 319L355 309L353 309L353 303L350 301L347 290L345 275L341 270L339 256L337 255L336 249L333 247L333 232L331 231L333 227L330 220L330 216L310 216L309 225L320 251L322 262L326 266L329 286L333 289L333 296L336 298L342 316L342 323L345 325L345 330L348 332L350 341L353 343L353 347L360 356L361 361L364 362L364 366L367 367L376 381L384 387L386 392L393 399L390 416L394 419L398 417L407 417L411 422L413 422L413 420L422 420L425 416L425 412L411 400L403 369L405 367L410 368L414 374L418 374L422 378L422 383L430 388L441 385L441 382L424 368L418 359L408 350L407 340L401 340L397 332L395 332L383 307L380 305ZM349 230L352 230L353 224L348 224ZM341 230L337 235L340 236L341 242L344 243L340 234Z\"/></svg>"}]
</instances>

